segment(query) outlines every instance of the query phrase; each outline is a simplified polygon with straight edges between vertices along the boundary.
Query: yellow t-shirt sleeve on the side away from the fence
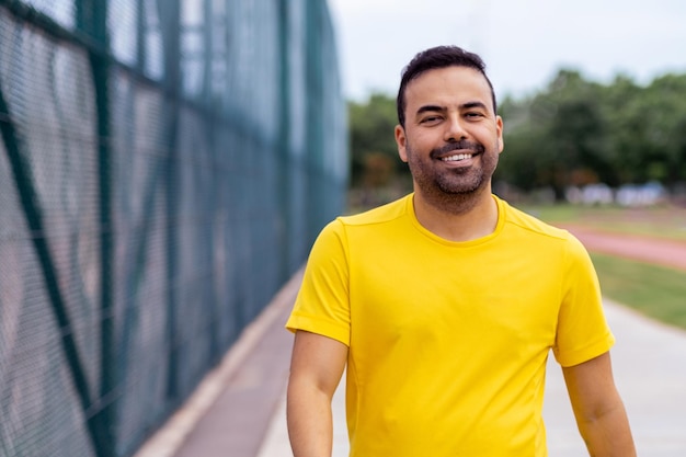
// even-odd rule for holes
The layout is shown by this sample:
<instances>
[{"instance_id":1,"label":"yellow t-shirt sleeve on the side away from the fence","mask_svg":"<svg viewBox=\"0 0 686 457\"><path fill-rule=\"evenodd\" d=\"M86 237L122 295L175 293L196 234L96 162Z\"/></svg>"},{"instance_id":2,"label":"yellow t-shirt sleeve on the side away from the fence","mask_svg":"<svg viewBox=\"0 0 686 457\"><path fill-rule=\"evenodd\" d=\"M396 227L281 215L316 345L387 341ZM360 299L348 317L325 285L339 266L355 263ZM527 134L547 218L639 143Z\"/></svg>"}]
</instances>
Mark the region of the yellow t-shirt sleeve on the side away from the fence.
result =
<instances>
[{"instance_id":1,"label":"yellow t-shirt sleeve on the side away from the fence","mask_svg":"<svg viewBox=\"0 0 686 457\"><path fill-rule=\"evenodd\" d=\"M570 235L562 278L562 302L553 354L562 366L579 365L609 351L615 338L607 324L598 278L583 244Z\"/></svg>"}]
</instances>

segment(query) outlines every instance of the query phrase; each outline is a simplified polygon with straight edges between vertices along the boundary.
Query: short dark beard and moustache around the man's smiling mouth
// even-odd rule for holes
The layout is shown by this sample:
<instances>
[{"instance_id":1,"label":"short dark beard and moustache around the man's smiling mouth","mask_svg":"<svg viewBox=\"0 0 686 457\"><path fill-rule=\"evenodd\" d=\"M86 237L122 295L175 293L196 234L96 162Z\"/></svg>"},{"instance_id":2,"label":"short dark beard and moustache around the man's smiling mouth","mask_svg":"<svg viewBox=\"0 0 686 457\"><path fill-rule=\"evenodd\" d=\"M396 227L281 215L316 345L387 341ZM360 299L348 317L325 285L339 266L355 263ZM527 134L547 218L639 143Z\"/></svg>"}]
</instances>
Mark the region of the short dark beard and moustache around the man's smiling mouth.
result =
<instances>
[{"instance_id":1,"label":"short dark beard and moustache around the man's smiling mouth","mask_svg":"<svg viewBox=\"0 0 686 457\"><path fill-rule=\"evenodd\" d=\"M478 203L479 195L490 191L499 159L496 145L488 149L479 142L460 140L432 149L428 156L414 150L409 142L405 149L415 192L438 209L464 213ZM453 150L469 150L476 155L476 163L465 168L442 167L438 158Z\"/></svg>"}]
</instances>

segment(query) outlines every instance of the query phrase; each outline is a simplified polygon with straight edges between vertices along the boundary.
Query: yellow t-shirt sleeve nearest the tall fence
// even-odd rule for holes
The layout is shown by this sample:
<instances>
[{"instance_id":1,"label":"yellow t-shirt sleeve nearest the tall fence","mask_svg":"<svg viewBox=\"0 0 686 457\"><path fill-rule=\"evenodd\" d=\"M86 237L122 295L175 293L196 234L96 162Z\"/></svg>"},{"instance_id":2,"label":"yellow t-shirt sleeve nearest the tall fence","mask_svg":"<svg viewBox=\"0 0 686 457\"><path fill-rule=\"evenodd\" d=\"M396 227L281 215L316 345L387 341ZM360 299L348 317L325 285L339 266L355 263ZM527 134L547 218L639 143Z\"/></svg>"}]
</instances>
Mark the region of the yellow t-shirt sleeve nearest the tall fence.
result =
<instances>
[{"instance_id":1,"label":"yellow t-shirt sleeve nearest the tall fence","mask_svg":"<svg viewBox=\"0 0 686 457\"><path fill-rule=\"evenodd\" d=\"M302 284L286 322L291 332L305 330L350 345L348 263L345 229L330 222L312 245Z\"/></svg>"}]
</instances>

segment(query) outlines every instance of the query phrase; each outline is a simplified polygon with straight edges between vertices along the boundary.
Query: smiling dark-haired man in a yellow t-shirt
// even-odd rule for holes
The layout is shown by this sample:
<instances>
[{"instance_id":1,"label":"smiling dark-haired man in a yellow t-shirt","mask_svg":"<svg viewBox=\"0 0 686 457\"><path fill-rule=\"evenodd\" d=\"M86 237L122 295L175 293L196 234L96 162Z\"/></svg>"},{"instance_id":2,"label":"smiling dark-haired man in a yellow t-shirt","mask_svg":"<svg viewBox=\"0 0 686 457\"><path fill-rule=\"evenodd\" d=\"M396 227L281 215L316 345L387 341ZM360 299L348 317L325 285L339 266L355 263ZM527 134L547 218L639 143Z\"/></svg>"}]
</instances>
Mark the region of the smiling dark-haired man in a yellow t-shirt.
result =
<instances>
[{"instance_id":1,"label":"smiling dark-haired man in a yellow t-shirt","mask_svg":"<svg viewBox=\"0 0 686 457\"><path fill-rule=\"evenodd\" d=\"M491 193L503 122L482 60L418 54L398 116L414 192L324 228L286 325L294 455L331 455L346 369L353 457L547 456L552 350L590 454L634 456L586 251Z\"/></svg>"}]
</instances>

